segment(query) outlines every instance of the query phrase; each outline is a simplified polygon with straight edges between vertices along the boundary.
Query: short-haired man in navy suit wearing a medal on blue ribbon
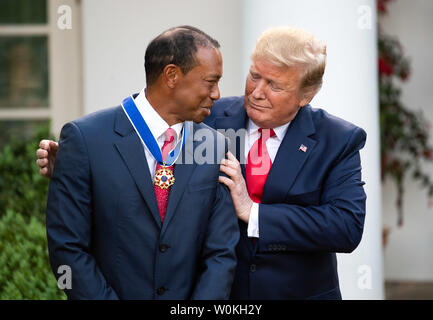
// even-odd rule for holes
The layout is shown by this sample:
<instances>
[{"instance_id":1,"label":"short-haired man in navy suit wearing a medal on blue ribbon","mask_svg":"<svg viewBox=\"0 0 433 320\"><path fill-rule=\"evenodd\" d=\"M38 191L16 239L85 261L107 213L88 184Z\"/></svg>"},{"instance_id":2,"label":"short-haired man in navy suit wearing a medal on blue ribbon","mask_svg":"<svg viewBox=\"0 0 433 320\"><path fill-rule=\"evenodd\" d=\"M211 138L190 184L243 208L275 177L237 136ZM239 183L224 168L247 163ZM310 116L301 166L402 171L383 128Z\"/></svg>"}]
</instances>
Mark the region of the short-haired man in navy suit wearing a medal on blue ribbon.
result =
<instances>
[{"instance_id":1,"label":"short-haired man in navy suit wearing a medal on blue ribbon","mask_svg":"<svg viewBox=\"0 0 433 320\"><path fill-rule=\"evenodd\" d=\"M63 127L46 220L55 275L71 268L68 298L229 297L239 229L218 182L226 142L197 124L219 98L218 48L192 27L164 32L146 50L146 89ZM203 165L185 163L197 130L214 146Z\"/></svg>"}]
</instances>

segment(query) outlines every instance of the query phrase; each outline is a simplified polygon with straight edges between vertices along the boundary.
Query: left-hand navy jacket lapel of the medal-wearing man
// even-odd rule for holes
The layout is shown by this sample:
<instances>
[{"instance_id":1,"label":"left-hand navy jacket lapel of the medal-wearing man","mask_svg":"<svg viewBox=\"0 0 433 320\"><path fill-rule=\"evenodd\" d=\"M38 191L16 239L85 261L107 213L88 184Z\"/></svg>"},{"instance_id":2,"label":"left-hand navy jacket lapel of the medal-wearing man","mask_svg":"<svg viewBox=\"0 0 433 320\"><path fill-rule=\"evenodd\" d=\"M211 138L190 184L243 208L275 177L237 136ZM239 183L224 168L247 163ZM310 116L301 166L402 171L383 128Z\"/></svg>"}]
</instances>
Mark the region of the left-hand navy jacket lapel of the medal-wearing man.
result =
<instances>
[{"instance_id":1,"label":"left-hand navy jacket lapel of the medal-wearing man","mask_svg":"<svg viewBox=\"0 0 433 320\"><path fill-rule=\"evenodd\" d=\"M128 167L141 196L147 203L156 224L161 228L161 218L144 147L122 108L118 110L114 131L122 136L122 139L116 142L115 146Z\"/></svg>"}]
</instances>

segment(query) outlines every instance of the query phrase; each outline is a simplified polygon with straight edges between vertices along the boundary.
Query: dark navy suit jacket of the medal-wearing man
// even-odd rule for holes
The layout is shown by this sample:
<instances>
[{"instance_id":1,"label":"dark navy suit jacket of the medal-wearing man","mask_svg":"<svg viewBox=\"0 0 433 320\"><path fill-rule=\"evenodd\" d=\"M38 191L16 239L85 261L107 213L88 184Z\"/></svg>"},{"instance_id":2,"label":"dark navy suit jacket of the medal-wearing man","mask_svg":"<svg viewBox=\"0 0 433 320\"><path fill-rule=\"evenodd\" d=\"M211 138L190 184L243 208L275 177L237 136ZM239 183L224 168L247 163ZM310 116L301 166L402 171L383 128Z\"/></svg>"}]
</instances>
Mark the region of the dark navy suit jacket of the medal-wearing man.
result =
<instances>
[{"instance_id":1,"label":"dark navy suit jacket of the medal-wearing man","mask_svg":"<svg viewBox=\"0 0 433 320\"><path fill-rule=\"evenodd\" d=\"M225 138L204 124L208 139ZM121 107L66 124L47 203L50 262L72 269L71 299L227 299L239 239L219 164L175 165L161 224L143 145ZM224 156L224 148L214 155ZM186 151L185 151L186 150Z\"/></svg>"}]
</instances>

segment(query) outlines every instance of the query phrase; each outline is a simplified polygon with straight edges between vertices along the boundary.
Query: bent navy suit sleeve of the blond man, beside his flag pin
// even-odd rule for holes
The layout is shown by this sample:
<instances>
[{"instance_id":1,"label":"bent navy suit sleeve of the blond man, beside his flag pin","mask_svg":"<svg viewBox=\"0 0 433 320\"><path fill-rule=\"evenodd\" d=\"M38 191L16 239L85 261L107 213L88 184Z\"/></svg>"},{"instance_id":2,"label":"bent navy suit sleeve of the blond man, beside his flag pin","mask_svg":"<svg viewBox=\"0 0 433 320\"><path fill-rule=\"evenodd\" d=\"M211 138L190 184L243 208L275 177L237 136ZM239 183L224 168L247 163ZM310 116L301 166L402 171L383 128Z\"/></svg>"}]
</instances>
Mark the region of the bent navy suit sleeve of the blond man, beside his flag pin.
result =
<instances>
[{"instance_id":1,"label":"bent navy suit sleeve of the blond man, beside his flag pin","mask_svg":"<svg viewBox=\"0 0 433 320\"><path fill-rule=\"evenodd\" d=\"M356 128L324 180L320 205L260 204L259 250L352 252L361 241L365 201Z\"/></svg>"}]
</instances>

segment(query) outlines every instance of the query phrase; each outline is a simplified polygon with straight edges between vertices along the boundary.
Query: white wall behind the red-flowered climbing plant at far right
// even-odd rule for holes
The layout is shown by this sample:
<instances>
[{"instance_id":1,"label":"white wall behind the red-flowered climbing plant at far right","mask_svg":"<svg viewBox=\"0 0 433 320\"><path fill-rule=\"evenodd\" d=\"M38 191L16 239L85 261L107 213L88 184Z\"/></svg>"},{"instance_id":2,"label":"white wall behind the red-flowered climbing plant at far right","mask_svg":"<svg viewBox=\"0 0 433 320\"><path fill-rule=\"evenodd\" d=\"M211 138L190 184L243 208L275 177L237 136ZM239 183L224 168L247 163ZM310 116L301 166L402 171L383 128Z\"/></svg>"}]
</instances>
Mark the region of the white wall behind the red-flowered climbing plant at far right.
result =
<instances>
[{"instance_id":1,"label":"white wall behind the red-flowered climbing plant at far right","mask_svg":"<svg viewBox=\"0 0 433 320\"><path fill-rule=\"evenodd\" d=\"M402 103L411 110L422 110L433 124L433 1L395 0L388 5L383 31L397 36L411 59L412 73L400 85ZM430 131L432 134L433 131ZM430 139L433 145L433 138ZM424 166L433 176L433 165ZM384 224L391 228L385 248L387 280L433 281L433 207L427 192L410 179L404 185L404 223L397 227L396 188L391 181L384 185Z\"/></svg>"}]
</instances>

